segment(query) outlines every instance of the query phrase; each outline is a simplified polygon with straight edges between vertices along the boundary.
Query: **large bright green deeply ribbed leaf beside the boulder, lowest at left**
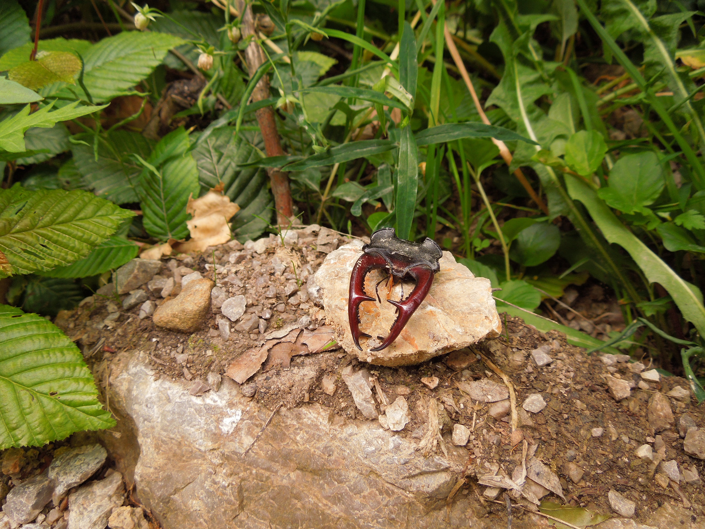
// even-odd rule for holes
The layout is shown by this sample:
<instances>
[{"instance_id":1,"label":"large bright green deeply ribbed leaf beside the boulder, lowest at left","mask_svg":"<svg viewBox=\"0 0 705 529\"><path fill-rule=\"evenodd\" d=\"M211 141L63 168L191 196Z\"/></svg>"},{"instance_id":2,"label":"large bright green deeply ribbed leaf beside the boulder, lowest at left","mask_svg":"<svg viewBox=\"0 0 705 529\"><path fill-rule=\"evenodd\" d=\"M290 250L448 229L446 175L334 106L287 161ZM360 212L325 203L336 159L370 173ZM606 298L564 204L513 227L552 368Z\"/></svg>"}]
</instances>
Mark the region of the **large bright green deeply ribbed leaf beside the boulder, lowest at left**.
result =
<instances>
[{"instance_id":1,"label":"large bright green deeply ribbed leaf beside the boulder, lowest at left","mask_svg":"<svg viewBox=\"0 0 705 529\"><path fill-rule=\"evenodd\" d=\"M78 347L35 314L0 305L0 449L115 425Z\"/></svg>"}]
</instances>

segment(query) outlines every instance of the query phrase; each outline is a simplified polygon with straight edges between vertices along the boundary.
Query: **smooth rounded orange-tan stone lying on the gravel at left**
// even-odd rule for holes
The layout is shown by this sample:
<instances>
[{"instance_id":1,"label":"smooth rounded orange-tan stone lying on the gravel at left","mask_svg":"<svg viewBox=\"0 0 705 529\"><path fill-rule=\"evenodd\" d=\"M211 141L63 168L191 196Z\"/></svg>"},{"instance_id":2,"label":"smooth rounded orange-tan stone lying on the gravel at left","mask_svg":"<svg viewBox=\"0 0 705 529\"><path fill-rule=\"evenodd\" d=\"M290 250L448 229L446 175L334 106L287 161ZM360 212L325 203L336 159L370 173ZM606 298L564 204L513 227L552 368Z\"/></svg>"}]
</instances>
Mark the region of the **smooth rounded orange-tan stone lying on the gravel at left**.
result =
<instances>
[{"instance_id":1,"label":"smooth rounded orange-tan stone lying on the gravel at left","mask_svg":"<svg viewBox=\"0 0 705 529\"><path fill-rule=\"evenodd\" d=\"M211 310L210 279L193 279L176 298L166 300L154 311L152 321L172 331L194 332Z\"/></svg>"}]
</instances>

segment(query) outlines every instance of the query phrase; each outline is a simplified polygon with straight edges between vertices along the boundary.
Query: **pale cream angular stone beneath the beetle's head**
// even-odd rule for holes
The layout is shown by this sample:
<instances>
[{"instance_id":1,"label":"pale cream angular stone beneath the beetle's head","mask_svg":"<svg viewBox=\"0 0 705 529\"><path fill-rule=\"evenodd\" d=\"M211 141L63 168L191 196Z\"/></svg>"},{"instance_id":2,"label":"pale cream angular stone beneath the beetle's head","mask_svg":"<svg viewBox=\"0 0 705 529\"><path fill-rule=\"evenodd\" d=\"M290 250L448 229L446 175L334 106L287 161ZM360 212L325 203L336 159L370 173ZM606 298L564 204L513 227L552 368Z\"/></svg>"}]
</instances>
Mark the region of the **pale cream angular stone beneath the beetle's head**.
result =
<instances>
[{"instance_id":1,"label":"pale cream angular stone beneath the beetle's head","mask_svg":"<svg viewBox=\"0 0 705 529\"><path fill-rule=\"evenodd\" d=\"M312 298L322 300L326 321L333 325L338 343L348 353L377 365L411 365L434 356L467 347L489 337L499 336L502 324L495 308L489 279L475 277L467 267L455 262L453 255L443 252L441 271L424 302L407 322L391 346L382 351L369 351L379 345L375 339L362 337L358 350L353 343L348 324L348 291L350 274L357 258L362 255L362 242L353 241L331 252L315 275L314 284L307 285ZM375 286L386 274L374 270L367 274L365 290L376 298ZM404 296L415 284L403 284ZM371 336L389 334L396 308L387 303L386 283L379 285L382 303L365 301L360 305L360 330ZM390 299L399 300L402 284L393 286ZM374 344L374 345L373 345Z\"/></svg>"}]
</instances>

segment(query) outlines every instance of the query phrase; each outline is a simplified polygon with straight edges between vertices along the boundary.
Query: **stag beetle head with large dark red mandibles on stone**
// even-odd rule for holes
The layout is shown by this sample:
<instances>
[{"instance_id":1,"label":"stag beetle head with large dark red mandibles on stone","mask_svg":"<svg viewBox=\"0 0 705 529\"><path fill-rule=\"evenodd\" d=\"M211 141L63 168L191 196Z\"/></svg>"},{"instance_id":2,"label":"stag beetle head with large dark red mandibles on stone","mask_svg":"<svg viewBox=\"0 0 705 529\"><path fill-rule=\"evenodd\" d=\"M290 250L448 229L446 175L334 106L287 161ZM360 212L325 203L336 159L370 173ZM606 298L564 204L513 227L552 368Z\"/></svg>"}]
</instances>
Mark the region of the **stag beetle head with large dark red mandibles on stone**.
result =
<instances>
[{"instance_id":1,"label":"stag beetle head with large dark red mandibles on stone","mask_svg":"<svg viewBox=\"0 0 705 529\"><path fill-rule=\"evenodd\" d=\"M364 292L364 278L367 273L384 268L398 281L414 279L416 286L410 296L405 300L388 300L397 310L397 317L386 338L381 345L370 351L381 351L396 340L399 333L414 311L421 305L434 282L434 275L439 272L441 265L439 259L443 255L441 247L432 239L426 238L423 243L410 243L397 238L393 228L383 228L372 233L369 244L362 247L364 252L353 267L350 276L350 297L348 298L348 320L353 341L360 351L360 336L368 336L360 331L360 303L374 301ZM379 299L379 294L378 294ZM381 300L380 300L381 301Z\"/></svg>"}]
</instances>

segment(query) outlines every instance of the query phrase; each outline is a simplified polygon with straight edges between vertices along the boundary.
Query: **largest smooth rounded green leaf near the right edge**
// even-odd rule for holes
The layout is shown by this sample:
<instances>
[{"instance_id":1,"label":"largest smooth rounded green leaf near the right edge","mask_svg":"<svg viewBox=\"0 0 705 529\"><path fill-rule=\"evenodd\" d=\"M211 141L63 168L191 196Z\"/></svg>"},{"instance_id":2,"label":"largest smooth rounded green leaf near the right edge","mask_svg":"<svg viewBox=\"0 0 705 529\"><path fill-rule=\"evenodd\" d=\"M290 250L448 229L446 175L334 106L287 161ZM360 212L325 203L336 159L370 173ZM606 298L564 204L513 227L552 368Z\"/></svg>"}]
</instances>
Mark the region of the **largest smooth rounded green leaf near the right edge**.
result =
<instances>
[{"instance_id":1,"label":"largest smooth rounded green leaf near the right edge","mask_svg":"<svg viewBox=\"0 0 705 529\"><path fill-rule=\"evenodd\" d=\"M654 203L663 190L661 164L653 152L621 157L610 171L609 187L597 191L610 207L624 213L638 212Z\"/></svg>"}]
</instances>

